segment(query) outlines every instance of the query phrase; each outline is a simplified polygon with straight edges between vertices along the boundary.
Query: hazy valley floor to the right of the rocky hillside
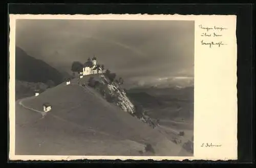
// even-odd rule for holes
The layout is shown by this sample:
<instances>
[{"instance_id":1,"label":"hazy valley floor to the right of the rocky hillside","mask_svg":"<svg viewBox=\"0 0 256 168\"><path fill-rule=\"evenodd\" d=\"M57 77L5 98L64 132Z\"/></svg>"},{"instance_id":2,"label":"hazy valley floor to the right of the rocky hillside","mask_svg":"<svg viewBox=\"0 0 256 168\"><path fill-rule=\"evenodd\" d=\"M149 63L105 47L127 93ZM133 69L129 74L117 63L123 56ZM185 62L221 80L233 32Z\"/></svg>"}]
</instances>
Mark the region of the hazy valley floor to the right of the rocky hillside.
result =
<instances>
[{"instance_id":1,"label":"hazy valley floor to the right of the rocky hillside","mask_svg":"<svg viewBox=\"0 0 256 168\"><path fill-rule=\"evenodd\" d=\"M145 115L158 121L158 129L166 137L194 152L194 87L139 88L127 95L143 107Z\"/></svg>"}]
</instances>

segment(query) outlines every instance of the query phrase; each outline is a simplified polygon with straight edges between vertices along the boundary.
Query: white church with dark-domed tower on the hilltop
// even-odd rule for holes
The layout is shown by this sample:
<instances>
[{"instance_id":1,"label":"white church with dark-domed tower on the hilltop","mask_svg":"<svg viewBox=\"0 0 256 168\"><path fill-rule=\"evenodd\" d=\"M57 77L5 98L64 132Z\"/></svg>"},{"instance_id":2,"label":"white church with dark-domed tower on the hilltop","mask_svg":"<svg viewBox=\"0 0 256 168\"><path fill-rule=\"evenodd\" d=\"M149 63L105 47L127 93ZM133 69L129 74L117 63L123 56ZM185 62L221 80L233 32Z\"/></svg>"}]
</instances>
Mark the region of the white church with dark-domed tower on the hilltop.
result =
<instances>
[{"instance_id":1,"label":"white church with dark-domed tower on the hilltop","mask_svg":"<svg viewBox=\"0 0 256 168\"><path fill-rule=\"evenodd\" d=\"M83 64L82 75L101 74L102 71L103 65L97 64L97 58L93 57L92 60L88 58L87 62Z\"/></svg>"}]
</instances>

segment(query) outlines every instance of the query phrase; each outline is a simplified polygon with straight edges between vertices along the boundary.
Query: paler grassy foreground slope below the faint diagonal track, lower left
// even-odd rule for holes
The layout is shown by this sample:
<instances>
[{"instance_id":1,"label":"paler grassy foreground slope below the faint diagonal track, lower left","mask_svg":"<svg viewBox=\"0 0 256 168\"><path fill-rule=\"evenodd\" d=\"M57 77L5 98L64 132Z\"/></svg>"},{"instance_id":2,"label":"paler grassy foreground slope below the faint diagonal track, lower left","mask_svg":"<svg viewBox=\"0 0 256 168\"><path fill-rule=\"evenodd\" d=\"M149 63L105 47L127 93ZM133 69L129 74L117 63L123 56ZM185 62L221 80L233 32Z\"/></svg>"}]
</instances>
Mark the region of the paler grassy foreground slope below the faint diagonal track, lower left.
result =
<instances>
[{"instance_id":1,"label":"paler grassy foreground slope below the faint diagonal track, lower left","mask_svg":"<svg viewBox=\"0 0 256 168\"><path fill-rule=\"evenodd\" d=\"M24 109L16 103L16 155L140 155L144 145ZM143 154L145 155L145 154Z\"/></svg>"}]
</instances>

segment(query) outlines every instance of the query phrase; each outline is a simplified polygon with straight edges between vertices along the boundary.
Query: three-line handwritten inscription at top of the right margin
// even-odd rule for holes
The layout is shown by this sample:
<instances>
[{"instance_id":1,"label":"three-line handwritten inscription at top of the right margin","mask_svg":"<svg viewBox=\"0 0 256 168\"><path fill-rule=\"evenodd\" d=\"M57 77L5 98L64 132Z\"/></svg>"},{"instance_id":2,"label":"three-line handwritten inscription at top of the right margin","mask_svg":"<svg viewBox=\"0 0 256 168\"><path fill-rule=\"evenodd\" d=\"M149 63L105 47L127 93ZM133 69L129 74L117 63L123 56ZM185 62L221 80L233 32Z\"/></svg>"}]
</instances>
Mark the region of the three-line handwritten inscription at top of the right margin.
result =
<instances>
[{"instance_id":1,"label":"three-line handwritten inscription at top of the right margin","mask_svg":"<svg viewBox=\"0 0 256 168\"><path fill-rule=\"evenodd\" d=\"M227 45L224 41L221 40L223 37L223 32L227 30L225 27L218 26L203 26L199 25L199 28L202 30L201 33L201 45L208 46L210 48L217 46L221 47L222 45Z\"/></svg>"}]
</instances>

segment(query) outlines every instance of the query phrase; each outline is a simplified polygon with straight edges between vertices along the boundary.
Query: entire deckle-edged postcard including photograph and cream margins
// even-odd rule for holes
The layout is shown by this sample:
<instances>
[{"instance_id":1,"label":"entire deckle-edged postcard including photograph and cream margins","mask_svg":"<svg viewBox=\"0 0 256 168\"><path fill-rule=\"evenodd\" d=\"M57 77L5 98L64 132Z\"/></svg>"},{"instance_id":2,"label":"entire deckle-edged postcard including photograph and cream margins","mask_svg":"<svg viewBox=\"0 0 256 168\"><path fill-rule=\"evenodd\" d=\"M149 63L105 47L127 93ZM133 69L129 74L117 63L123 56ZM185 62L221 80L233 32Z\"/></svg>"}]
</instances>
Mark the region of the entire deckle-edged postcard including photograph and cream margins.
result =
<instances>
[{"instance_id":1,"label":"entire deckle-edged postcard including photograph and cream margins","mask_svg":"<svg viewBox=\"0 0 256 168\"><path fill-rule=\"evenodd\" d=\"M10 160L237 159L235 15L9 17Z\"/></svg>"}]
</instances>

